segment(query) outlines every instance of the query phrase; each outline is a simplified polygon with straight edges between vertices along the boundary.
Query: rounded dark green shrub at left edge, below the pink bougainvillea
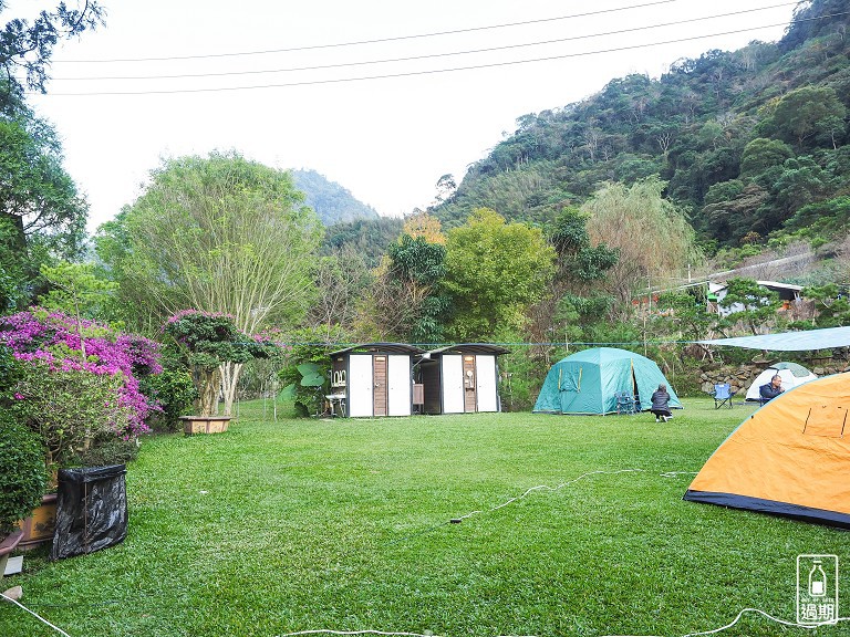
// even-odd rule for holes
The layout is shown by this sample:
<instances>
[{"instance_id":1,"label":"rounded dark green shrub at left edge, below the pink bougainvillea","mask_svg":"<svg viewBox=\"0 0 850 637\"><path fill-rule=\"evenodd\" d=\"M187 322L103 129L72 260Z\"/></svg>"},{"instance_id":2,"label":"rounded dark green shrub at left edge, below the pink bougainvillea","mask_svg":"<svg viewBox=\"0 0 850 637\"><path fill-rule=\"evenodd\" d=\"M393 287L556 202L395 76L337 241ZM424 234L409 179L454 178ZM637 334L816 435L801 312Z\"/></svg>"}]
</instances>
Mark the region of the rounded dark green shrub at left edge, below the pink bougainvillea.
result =
<instances>
[{"instance_id":1,"label":"rounded dark green shrub at left edge, below the pink bougainvillea","mask_svg":"<svg viewBox=\"0 0 850 637\"><path fill-rule=\"evenodd\" d=\"M41 503L46 487L38 436L6 410L0 410L0 539L4 539Z\"/></svg>"}]
</instances>

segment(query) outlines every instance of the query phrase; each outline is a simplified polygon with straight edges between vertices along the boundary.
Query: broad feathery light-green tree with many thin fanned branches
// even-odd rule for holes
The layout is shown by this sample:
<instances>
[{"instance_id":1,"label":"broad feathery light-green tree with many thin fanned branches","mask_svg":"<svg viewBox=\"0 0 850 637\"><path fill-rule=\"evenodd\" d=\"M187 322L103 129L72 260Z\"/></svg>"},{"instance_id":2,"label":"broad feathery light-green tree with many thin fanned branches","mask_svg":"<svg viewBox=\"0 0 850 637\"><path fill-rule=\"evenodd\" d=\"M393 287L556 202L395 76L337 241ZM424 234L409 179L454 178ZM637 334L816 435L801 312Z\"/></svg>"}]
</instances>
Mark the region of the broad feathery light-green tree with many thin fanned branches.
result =
<instances>
[{"instance_id":1,"label":"broad feathery light-green tree with many thin fanned branches","mask_svg":"<svg viewBox=\"0 0 850 637\"><path fill-rule=\"evenodd\" d=\"M314 293L322 233L302 197L288 173L235 152L165 160L101 229L99 255L139 326L179 307L227 312L249 334L293 325Z\"/></svg>"}]
</instances>

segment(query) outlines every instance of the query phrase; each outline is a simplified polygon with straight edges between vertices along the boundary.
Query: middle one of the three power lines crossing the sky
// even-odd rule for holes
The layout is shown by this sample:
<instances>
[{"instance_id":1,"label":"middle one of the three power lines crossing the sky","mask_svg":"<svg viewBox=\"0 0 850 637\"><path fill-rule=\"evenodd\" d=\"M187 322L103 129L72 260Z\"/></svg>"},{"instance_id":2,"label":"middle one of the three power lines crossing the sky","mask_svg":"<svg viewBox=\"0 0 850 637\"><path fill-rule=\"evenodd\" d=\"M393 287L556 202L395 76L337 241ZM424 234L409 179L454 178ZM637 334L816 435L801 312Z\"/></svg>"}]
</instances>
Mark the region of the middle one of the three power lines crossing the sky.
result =
<instances>
[{"instance_id":1,"label":"middle one of the three power lines crossing the sky","mask_svg":"<svg viewBox=\"0 0 850 637\"><path fill-rule=\"evenodd\" d=\"M491 53L495 51L508 51L514 49L524 49L528 46L541 46L545 44L558 44L563 42L571 42L576 40L589 40L592 38L603 38L608 35L621 35L623 33L633 33L635 31L647 31L650 29L663 29L666 27L677 27L681 24L688 24L693 22L702 22L705 20L716 20L718 18L729 18L733 15L742 15L744 13L754 13L757 11L767 11L770 9L778 9L780 7L790 7L792 4L796 4L796 2L784 2L781 4L771 4L769 7L760 7L757 9L744 9L740 11L732 11L729 13L719 13L715 15L703 15L701 18L688 18L686 20L676 20L674 22L662 22L659 24L649 24L645 27L632 27L629 29L620 29L618 31L603 31L601 33L588 33L583 35L571 35L569 38L558 38L554 40L541 40L538 42L526 42L522 44L505 44L501 46L490 46L486 49L473 49L467 51L454 51L454 52L447 52L447 53L431 53L425 55L412 55L407 58L391 58L391 59L384 59L384 60L367 60L363 62L343 62L343 63L336 63L336 64L321 64L321 65L314 65L314 66L296 66L290 69L266 69L266 70L252 70L252 71L224 71L218 73L184 73L184 74L176 74L176 75L129 75L129 76L92 76L92 77L54 77L55 81L61 82L79 82L79 81L125 81L125 80L179 80L179 79L189 79L189 77L225 77L225 76L234 76L234 75L260 75L265 73L291 73L291 72L299 72L299 71L320 71L320 70L329 70L329 69L344 69L344 67L351 67L351 66L365 66L370 64L390 64L390 63L397 63L397 62L412 62L417 60L431 60L435 58L449 58L454 55L470 55L476 53Z\"/></svg>"}]
</instances>

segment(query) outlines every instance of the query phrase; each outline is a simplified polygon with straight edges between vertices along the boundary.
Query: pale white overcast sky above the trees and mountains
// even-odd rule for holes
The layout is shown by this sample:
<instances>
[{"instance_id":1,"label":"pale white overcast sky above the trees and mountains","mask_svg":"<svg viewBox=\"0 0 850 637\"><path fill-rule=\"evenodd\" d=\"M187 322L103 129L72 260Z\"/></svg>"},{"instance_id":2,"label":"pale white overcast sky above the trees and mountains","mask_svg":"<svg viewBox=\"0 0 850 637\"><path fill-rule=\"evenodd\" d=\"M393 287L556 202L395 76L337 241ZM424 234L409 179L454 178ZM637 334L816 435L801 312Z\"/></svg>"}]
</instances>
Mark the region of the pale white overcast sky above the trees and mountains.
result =
<instances>
[{"instance_id":1,"label":"pale white overcast sky above the trees and mountains","mask_svg":"<svg viewBox=\"0 0 850 637\"><path fill-rule=\"evenodd\" d=\"M12 0L0 19L52 3ZM404 215L433 201L442 175L459 182L519 116L563 107L629 73L657 77L676 60L711 49L778 40L796 6L102 4L105 27L62 44L48 95L30 96L62 138L65 167L91 203L90 231L139 196L162 158L212 149L317 170L381 215ZM520 63L529 60L536 61Z\"/></svg>"}]
</instances>

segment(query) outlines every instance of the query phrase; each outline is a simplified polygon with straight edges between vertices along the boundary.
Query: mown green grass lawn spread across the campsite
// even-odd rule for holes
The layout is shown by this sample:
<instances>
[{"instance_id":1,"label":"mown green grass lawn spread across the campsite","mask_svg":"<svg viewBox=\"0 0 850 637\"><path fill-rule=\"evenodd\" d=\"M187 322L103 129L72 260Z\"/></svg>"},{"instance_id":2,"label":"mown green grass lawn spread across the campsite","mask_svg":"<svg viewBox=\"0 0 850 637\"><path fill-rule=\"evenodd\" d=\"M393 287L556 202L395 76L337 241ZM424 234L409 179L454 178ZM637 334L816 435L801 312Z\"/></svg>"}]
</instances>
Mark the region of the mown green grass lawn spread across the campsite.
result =
<instances>
[{"instance_id":1,"label":"mown green grass lawn spread across the campsite","mask_svg":"<svg viewBox=\"0 0 850 637\"><path fill-rule=\"evenodd\" d=\"M850 565L850 535L684 502L693 472L753 411L685 406L667 424L270 422L260 403L243 404L227 434L144 440L123 544L58 563L30 553L3 583L72 637L677 636L745 607L792 620L797 555ZM691 473L662 476L678 471ZM498 508L538 485L562 487ZM850 599L850 586L842 593ZM753 615L723 633L779 634L812 633ZM56 633L4 603L0 635Z\"/></svg>"}]
</instances>

